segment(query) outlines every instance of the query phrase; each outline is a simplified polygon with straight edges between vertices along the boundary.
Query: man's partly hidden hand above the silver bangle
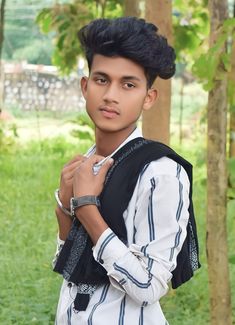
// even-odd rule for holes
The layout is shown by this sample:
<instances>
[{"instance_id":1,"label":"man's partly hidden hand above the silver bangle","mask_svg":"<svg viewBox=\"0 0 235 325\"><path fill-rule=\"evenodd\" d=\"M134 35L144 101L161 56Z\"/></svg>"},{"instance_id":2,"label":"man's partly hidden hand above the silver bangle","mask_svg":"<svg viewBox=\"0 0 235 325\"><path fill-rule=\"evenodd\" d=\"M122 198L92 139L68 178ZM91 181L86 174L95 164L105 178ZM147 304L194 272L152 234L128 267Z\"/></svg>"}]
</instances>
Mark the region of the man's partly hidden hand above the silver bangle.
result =
<instances>
[{"instance_id":1,"label":"man's partly hidden hand above the silver bangle","mask_svg":"<svg viewBox=\"0 0 235 325\"><path fill-rule=\"evenodd\" d=\"M70 199L73 196L73 178L76 169L85 161L87 157L77 155L68 162L61 172L59 197L63 206L70 209Z\"/></svg>"}]
</instances>

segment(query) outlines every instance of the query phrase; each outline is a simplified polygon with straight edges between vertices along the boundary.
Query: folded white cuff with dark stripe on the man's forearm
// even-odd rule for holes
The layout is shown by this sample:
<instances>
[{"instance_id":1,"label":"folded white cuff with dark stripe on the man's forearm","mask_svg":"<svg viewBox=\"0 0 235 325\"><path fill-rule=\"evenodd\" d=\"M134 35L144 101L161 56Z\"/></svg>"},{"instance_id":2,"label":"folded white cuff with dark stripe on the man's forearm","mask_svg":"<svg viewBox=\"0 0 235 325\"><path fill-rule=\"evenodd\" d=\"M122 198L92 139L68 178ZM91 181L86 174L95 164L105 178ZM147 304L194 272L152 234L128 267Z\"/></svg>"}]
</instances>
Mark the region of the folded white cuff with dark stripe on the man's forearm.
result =
<instances>
[{"instance_id":1,"label":"folded white cuff with dark stripe on the man's forearm","mask_svg":"<svg viewBox=\"0 0 235 325\"><path fill-rule=\"evenodd\" d=\"M100 263L109 273L113 269L113 264L128 252L125 244L107 228L99 237L93 247L94 259Z\"/></svg>"}]
</instances>

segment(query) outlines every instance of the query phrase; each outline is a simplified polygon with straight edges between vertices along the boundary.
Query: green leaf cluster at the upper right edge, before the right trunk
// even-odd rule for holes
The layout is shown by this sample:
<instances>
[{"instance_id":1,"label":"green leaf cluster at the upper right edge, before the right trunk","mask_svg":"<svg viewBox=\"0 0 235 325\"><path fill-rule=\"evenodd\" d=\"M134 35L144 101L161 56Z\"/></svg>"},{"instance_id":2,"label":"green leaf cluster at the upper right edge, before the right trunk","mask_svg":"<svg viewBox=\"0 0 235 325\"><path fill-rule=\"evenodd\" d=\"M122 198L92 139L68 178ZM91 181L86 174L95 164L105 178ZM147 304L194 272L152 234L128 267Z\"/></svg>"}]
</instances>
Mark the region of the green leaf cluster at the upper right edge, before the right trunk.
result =
<instances>
[{"instance_id":1,"label":"green leaf cluster at the upper right edge, before the right trunk","mask_svg":"<svg viewBox=\"0 0 235 325\"><path fill-rule=\"evenodd\" d=\"M216 80L222 80L231 70L231 51L225 51L228 38L235 37L235 18L224 21L218 30L216 42L202 54L193 66L193 72L203 83L205 90L213 89ZM231 87L231 85L230 85ZM231 94L231 88L230 88Z\"/></svg>"}]
</instances>

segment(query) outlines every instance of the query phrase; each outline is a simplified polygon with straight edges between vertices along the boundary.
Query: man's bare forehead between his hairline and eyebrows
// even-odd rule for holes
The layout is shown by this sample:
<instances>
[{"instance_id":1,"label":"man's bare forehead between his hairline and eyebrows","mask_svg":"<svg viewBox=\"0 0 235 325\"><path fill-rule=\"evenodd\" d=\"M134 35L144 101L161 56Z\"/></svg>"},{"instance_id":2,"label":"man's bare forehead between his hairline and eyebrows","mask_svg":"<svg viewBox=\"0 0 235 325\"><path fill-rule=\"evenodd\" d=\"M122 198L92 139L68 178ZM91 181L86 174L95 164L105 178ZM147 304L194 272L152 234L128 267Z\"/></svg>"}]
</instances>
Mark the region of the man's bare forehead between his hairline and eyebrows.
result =
<instances>
[{"instance_id":1,"label":"man's bare forehead between his hairline and eyebrows","mask_svg":"<svg viewBox=\"0 0 235 325\"><path fill-rule=\"evenodd\" d=\"M120 56L108 57L95 54L90 73L94 74L97 72L118 78L133 76L146 82L144 68L136 62Z\"/></svg>"}]
</instances>

